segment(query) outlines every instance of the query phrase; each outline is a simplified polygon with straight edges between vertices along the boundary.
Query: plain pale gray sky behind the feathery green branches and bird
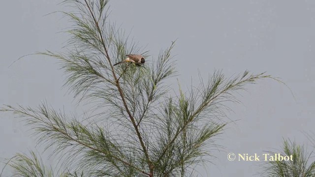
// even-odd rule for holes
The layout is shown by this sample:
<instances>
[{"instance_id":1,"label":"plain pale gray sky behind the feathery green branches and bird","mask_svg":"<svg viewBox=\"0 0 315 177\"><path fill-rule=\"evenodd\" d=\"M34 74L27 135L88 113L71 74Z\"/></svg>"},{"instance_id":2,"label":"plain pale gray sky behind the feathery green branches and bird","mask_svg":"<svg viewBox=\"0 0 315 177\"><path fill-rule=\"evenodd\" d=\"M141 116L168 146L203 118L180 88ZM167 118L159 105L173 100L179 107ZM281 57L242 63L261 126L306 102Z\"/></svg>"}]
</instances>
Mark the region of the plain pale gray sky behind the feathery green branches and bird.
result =
<instances>
[{"instance_id":1,"label":"plain pale gray sky behind the feathery green branches and bird","mask_svg":"<svg viewBox=\"0 0 315 177\"><path fill-rule=\"evenodd\" d=\"M8 68L23 55L61 50L67 35L57 32L69 27L68 22L60 14L43 16L62 10L58 2L1 3L1 105L35 107L46 99L68 112L84 108L76 108L72 95L61 89L64 76L56 59L26 57ZM215 165L201 169L200 176L253 177L259 172L259 162L231 162L227 154L280 149L282 138L308 142L302 131L314 130L315 124L315 1L112 0L110 5L111 21L131 31L134 40L147 46L154 57L178 38L173 54L182 86L189 86L191 77L196 80L198 70L207 78L214 69L222 69L227 77L248 69L280 77L293 91L296 102L289 89L270 79L241 91L242 104L228 104L234 111L228 117L240 120L229 124L216 141L224 149L214 152ZM0 119L0 161L34 149L31 132L20 118L1 113Z\"/></svg>"}]
</instances>

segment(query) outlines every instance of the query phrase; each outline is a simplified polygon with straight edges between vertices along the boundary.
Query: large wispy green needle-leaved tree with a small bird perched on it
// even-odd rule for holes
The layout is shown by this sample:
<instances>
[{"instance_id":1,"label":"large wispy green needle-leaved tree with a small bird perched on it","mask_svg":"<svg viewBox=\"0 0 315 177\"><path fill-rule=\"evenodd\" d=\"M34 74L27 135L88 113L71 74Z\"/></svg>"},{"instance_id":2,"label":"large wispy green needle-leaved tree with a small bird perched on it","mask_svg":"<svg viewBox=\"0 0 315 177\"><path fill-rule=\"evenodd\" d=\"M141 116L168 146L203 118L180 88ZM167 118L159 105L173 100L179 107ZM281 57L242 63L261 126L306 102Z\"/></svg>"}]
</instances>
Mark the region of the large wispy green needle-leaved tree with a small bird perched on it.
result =
<instances>
[{"instance_id":1,"label":"large wispy green needle-leaved tree with a small bird perched on it","mask_svg":"<svg viewBox=\"0 0 315 177\"><path fill-rule=\"evenodd\" d=\"M170 94L165 81L174 77L171 46L153 63L113 66L126 54L142 49L130 43L108 21L108 0L64 0L73 12L65 52L39 52L59 59L67 74L65 86L80 102L95 102L102 123L80 121L42 103L38 108L5 105L1 111L25 118L45 149L61 155L66 177L177 177L193 175L193 167L207 161L208 147L226 125L224 104L237 102L234 91L258 79L271 78L248 71L226 79L215 71L200 85ZM141 55L148 57L148 52ZM92 120L95 117L84 118ZM52 141L53 143L51 143ZM71 163L70 163L71 162ZM15 176L52 177L36 154L17 154L9 165Z\"/></svg>"}]
</instances>

